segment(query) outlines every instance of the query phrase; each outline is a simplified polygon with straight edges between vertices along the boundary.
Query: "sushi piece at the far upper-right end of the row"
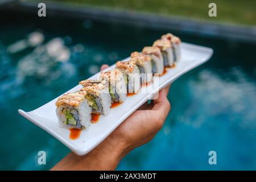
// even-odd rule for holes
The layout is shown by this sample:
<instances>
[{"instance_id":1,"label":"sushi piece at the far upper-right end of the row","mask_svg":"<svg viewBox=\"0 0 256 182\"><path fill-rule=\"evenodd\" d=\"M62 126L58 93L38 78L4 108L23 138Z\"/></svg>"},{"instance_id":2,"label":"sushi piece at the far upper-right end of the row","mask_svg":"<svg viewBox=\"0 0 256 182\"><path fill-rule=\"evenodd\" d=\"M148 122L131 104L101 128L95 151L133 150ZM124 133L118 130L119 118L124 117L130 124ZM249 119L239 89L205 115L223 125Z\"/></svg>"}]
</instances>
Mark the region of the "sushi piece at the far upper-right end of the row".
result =
<instances>
[{"instance_id":1,"label":"sushi piece at the far upper-right end of the row","mask_svg":"<svg viewBox=\"0 0 256 182\"><path fill-rule=\"evenodd\" d=\"M167 39L171 42L172 44L172 52L174 55L174 62L179 62L181 59L181 40L175 35L172 35L170 33L166 35L162 35L162 39Z\"/></svg>"}]
</instances>

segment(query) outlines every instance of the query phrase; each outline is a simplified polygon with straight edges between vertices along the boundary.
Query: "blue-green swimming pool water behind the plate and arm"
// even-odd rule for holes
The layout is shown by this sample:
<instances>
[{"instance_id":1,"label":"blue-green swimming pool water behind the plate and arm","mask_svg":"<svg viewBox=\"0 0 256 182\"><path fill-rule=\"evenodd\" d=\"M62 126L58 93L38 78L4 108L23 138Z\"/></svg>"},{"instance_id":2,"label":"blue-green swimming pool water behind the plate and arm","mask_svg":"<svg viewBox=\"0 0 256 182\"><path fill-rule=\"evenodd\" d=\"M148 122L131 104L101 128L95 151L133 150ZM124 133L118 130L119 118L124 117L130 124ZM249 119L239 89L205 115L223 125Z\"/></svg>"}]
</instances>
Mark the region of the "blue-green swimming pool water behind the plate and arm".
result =
<instances>
[{"instance_id":1,"label":"blue-green swimming pool water behind the plate and arm","mask_svg":"<svg viewBox=\"0 0 256 182\"><path fill-rule=\"evenodd\" d=\"M0 14L0 169L49 169L69 152L18 109L33 110L98 72L101 64L113 64L173 32L21 13L7 20L7 12ZM10 47L35 31L44 35L46 49L15 52ZM117 169L256 169L256 44L174 34L184 42L212 47L214 55L172 84L172 110L163 129L123 158ZM47 56L52 39L63 43L64 59ZM37 164L41 150L47 152L43 166ZM212 150L217 165L210 166Z\"/></svg>"}]
</instances>

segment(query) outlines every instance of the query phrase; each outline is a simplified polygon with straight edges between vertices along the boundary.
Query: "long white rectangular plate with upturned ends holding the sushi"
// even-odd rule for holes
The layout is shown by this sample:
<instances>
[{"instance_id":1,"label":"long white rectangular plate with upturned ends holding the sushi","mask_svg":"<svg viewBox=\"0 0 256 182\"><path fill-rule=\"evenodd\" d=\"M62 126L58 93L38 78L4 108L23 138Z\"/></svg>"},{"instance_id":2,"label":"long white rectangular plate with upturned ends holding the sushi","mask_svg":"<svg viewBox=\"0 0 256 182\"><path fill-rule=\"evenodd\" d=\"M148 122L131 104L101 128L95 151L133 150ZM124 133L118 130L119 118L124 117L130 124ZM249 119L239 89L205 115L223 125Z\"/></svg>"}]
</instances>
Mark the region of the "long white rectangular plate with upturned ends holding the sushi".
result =
<instances>
[{"instance_id":1,"label":"long white rectangular plate with upturned ends holding the sushi","mask_svg":"<svg viewBox=\"0 0 256 182\"><path fill-rule=\"evenodd\" d=\"M101 115L97 123L92 124L88 130L83 130L80 137L75 140L69 138L70 131L68 129L60 128L58 125L58 119L55 113L55 102L57 98L30 112L19 109L19 113L60 140L60 142L65 144L65 146L70 148L77 155L85 155L108 137L108 135L129 117L130 114L138 109L139 106L152 98L159 89L164 88L191 69L205 63L205 61L210 59L212 53L213 50L211 48L182 43L181 61L176 64L175 68L168 69L166 74L159 77L158 88L151 86L149 92L144 93L143 89L146 89L146 87L143 87L141 90L142 93L127 97L127 100L123 104L114 107L108 116ZM114 68L114 65L110 68ZM97 77L98 73L90 77L90 79ZM80 88L81 86L77 85L68 92L73 92Z\"/></svg>"}]
</instances>

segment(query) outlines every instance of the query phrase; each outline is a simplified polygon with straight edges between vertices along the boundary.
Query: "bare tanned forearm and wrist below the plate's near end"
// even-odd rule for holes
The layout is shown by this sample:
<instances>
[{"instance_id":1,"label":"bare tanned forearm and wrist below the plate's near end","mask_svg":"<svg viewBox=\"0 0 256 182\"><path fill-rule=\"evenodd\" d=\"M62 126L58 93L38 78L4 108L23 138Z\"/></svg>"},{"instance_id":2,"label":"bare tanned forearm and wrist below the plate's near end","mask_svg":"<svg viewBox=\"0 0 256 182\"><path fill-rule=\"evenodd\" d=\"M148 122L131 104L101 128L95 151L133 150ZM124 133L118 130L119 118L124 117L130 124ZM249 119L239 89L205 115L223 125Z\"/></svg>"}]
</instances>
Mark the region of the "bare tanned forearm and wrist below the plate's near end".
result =
<instances>
[{"instance_id":1,"label":"bare tanned forearm and wrist below the plate's near end","mask_svg":"<svg viewBox=\"0 0 256 182\"><path fill-rule=\"evenodd\" d=\"M79 156L71 152L51 170L114 170L126 154L125 146L115 145L104 140L87 155Z\"/></svg>"}]
</instances>

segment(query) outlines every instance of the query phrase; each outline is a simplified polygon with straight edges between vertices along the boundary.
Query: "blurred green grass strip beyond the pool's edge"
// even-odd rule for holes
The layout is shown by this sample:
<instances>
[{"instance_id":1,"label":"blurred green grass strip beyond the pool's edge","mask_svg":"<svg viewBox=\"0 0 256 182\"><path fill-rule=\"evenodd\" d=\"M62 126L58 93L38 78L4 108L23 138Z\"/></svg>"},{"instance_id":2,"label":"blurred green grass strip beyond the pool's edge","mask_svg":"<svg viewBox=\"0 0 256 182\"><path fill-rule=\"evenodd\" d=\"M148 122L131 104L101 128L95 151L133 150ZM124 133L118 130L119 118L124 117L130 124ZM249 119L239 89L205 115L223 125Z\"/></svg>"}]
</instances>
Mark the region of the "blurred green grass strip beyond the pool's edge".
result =
<instances>
[{"instance_id":1,"label":"blurred green grass strip beyond the pool's edge","mask_svg":"<svg viewBox=\"0 0 256 182\"><path fill-rule=\"evenodd\" d=\"M222 23L256 25L255 0L54 0L76 5L143 11L161 15L183 16ZM209 17L209 3L217 5L217 17Z\"/></svg>"}]
</instances>

